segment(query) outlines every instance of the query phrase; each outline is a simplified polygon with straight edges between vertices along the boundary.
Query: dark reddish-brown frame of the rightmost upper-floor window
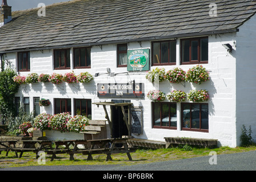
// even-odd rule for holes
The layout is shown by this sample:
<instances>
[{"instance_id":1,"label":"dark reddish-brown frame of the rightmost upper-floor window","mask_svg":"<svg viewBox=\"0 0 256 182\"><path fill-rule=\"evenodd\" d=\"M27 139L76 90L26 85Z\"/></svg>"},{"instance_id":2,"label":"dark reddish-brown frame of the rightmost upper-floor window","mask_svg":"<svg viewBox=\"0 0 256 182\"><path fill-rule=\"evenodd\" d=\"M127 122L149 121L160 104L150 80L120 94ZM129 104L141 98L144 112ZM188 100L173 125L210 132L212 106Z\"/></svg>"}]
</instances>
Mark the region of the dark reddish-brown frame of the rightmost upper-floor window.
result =
<instances>
[{"instance_id":1,"label":"dark reddish-brown frame of the rightmost upper-floor window","mask_svg":"<svg viewBox=\"0 0 256 182\"><path fill-rule=\"evenodd\" d=\"M202 57L202 45L201 45L201 40L202 39L207 39L207 60L201 61ZM183 60L183 44L184 41L189 41L189 61L184 61ZM192 42L197 41L198 42L198 48L197 48L197 60L192 60ZM208 64L209 63L209 38L207 36L204 37L199 37L199 38L188 38L188 39L181 39L181 47L180 47L180 52L181 52L181 65L186 65L186 64Z\"/></svg>"}]
</instances>

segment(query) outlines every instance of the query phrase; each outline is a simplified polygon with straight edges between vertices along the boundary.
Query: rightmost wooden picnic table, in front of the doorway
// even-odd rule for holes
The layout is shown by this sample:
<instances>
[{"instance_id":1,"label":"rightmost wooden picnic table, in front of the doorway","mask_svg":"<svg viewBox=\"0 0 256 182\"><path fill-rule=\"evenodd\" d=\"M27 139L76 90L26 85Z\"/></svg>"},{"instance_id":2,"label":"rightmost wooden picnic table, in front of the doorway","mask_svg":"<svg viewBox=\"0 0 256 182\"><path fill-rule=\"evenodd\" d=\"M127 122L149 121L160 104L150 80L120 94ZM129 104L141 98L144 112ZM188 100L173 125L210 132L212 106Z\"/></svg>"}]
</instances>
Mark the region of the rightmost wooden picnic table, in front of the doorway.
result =
<instances>
[{"instance_id":1,"label":"rightmost wooden picnic table, in front of the doorway","mask_svg":"<svg viewBox=\"0 0 256 182\"><path fill-rule=\"evenodd\" d=\"M127 145L127 138L108 138L88 140L91 143L90 150L83 151L83 154L88 154L87 160L93 160L92 154L107 154L106 161L112 160L111 154L126 153L129 160L131 158L130 152L135 152L135 148L129 148ZM95 146L97 146L95 148Z\"/></svg>"}]
</instances>

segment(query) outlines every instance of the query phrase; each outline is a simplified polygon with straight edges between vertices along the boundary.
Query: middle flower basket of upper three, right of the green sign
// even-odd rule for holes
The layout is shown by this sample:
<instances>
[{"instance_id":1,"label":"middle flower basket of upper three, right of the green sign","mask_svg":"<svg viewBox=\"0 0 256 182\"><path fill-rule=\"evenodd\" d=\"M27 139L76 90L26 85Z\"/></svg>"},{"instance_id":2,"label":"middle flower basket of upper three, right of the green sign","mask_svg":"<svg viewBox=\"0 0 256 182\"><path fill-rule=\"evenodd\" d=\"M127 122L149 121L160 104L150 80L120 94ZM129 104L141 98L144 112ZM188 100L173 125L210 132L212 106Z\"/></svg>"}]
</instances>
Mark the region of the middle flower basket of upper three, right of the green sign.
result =
<instances>
[{"instance_id":1,"label":"middle flower basket of upper three, right of the green sign","mask_svg":"<svg viewBox=\"0 0 256 182\"><path fill-rule=\"evenodd\" d=\"M186 80L186 72L181 68L174 68L165 73L165 80L178 84Z\"/></svg>"}]
</instances>

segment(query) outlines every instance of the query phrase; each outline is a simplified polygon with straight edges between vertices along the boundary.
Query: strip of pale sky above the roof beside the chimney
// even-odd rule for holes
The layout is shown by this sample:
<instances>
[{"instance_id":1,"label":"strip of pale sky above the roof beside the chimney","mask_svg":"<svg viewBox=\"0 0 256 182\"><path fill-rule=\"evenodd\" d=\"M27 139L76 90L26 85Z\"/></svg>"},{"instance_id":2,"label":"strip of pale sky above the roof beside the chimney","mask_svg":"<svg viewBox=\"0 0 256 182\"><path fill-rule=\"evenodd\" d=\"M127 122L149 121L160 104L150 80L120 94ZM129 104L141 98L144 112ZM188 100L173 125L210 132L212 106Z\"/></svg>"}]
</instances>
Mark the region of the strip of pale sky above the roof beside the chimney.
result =
<instances>
[{"instance_id":1,"label":"strip of pale sky above the roof beside the chimney","mask_svg":"<svg viewBox=\"0 0 256 182\"><path fill-rule=\"evenodd\" d=\"M39 3L45 3L45 5L52 5L58 2L67 2L70 0L7 0L7 5L11 6L11 11L27 10L37 7ZM0 0L2 4L2 0Z\"/></svg>"}]
</instances>

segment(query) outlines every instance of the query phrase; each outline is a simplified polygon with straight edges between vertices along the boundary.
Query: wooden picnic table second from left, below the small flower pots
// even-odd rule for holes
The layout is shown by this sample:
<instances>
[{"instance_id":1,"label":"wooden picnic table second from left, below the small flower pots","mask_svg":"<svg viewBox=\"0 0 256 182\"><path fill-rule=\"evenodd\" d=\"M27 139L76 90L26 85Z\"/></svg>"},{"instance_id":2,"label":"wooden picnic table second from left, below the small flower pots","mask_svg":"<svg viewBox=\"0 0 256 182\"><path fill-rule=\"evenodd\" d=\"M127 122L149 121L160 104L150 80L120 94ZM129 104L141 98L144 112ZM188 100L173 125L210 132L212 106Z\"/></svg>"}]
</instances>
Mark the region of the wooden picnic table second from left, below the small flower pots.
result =
<instances>
[{"instance_id":1,"label":"wooden picnic table second from left, below the small flower pots","mask_svg":"<svg viewBox=\"0 0 256 182\"><path fill-rule=\"evenodd\" d=\"M19 154L19 158L22 157L23 152L33 151L36 154L36 159L38 159L39 151L47 151L53 149L51 146L53 142L51 140L22 140L22 143L22 148L13 148L13 150L16 152L21 152L21 154ZM39 144L39 147L37 147L36 144Z\"/></svg>"}]
</instances>

